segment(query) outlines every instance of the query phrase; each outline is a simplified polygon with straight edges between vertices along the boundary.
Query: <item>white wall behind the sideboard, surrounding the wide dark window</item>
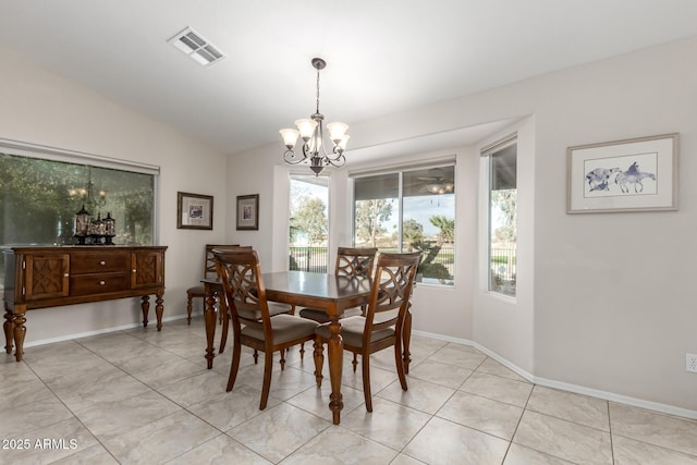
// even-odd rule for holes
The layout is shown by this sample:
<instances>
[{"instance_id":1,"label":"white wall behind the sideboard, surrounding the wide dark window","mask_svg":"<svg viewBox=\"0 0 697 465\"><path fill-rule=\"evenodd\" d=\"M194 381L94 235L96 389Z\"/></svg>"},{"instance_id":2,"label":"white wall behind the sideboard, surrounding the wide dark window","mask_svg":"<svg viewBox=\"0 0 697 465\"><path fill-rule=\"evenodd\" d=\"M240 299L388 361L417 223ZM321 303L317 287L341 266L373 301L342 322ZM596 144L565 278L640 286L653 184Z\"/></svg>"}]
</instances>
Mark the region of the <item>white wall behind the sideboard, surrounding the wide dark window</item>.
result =
<instances>
[{"instance_id":1,"label":"white wall behind the sideboard, surrounding the wide dark window","mask_svg":"<svg viewBox=\"0 0 697 465\"><path fill-rule=\"evenodd\" d=\"M169 246L164 318L184 314L185 291L203 274L205 244L225 237L228 208L221 167L227 158L2 48L0 63L0 138L160 167L158 244ZM176 229L178 191L213 196L212 231ZM127 298L29 310L26 345L136 325L142 320L139 302ZM151 322L156 321L154 307Z\"/></svg>"}]
</instances>

